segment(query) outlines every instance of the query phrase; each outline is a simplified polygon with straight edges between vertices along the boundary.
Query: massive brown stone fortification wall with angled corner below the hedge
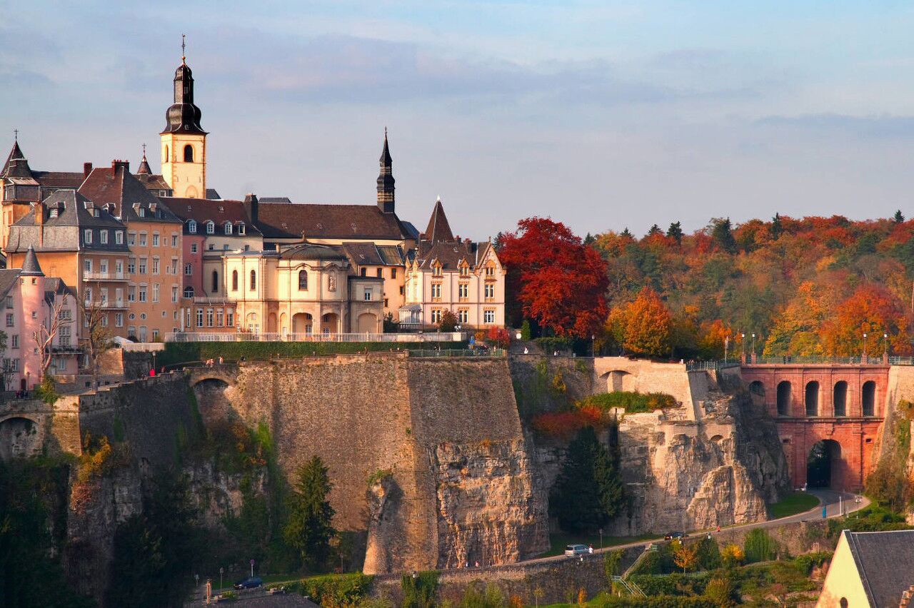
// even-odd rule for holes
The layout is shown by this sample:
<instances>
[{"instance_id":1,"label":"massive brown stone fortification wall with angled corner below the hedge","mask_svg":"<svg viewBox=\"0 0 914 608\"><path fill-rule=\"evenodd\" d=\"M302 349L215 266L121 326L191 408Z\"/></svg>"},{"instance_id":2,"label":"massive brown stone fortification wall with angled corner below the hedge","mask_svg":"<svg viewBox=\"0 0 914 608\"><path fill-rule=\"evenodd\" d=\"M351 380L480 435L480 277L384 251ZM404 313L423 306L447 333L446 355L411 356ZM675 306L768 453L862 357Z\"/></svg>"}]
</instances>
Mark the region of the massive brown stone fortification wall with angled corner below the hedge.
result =
<instances>
[{"instance_id":1,"label":"massive brown stone fortification wall with angled corner below the hedge","mask_svg":"<svg viewBox=\"0 0 914 608\"><path fill-rule=\"evenodd\" d=\"M269 425L286 476L321 456L335 525L367 533L367 572L547 545L505 360L307 357L200 368L191 383L205 422Z\"/></svg>"}]
</instances>

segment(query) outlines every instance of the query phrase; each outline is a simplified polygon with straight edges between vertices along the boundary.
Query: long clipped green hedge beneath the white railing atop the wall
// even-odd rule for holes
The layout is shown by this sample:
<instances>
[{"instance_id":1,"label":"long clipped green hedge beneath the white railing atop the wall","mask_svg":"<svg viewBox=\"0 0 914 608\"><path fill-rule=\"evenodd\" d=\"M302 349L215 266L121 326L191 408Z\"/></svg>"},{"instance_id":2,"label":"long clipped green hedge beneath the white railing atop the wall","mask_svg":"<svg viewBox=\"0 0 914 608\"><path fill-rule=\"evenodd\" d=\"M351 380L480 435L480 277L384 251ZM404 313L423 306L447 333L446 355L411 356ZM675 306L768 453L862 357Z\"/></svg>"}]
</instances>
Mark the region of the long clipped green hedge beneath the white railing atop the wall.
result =
<instances>
[{"instance_id":1,"label":"long clipped green hedge beneath the white railing atop the wall","mask_svg":"<svg viewBox=\"0 0 914 608\"><path fill-rule=\"evenodd\" d=\"M466 342L446 342L449 349L465 349ZM165 342L165 351L156 354L156 365L177 365L222 357L225 361L265 361L277 355L286 358L311 355L388 352L433 349L430 342Z\"/></svg>"}]
</instances>

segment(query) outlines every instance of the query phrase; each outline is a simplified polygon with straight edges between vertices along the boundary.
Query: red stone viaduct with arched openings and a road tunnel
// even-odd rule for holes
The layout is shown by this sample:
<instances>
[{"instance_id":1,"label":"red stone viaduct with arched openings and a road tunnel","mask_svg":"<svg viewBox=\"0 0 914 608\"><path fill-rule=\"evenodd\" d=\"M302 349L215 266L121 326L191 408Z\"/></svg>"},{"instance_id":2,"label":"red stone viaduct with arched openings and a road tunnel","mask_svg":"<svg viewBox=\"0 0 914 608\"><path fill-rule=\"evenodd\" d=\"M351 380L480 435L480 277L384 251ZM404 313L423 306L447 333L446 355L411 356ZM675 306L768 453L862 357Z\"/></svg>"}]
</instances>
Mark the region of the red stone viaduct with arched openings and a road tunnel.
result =
<instances>
[{"instance_id":1,"label":"red stone viaduct with arched openings and a road tunnel","mask_svg":"<svg viewBox=\"0 0 914 608\"><path fill-rule=\"evenodd\" d=\"M742 378L753 399L778 425L794 487L806 483L806 461L825 442L831 487L856 491L876 465L888 387L886 363L744 363Z\"/></svg>"}]
</instances>

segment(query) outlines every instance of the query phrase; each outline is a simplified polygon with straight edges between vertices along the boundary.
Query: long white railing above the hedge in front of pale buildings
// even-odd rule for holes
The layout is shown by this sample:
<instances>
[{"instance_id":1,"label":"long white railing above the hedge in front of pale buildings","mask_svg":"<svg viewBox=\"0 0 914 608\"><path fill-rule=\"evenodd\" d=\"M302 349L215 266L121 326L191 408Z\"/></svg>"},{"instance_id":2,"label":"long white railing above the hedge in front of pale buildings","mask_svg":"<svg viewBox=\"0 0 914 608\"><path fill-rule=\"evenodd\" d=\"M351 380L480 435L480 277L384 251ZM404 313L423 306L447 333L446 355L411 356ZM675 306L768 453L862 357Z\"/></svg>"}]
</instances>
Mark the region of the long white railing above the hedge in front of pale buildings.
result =
<instances>
[{"instance_id":1,"label":"long white railing above the hedge in front of pale buildings","mask_svg":"<svg viewBox=\"0 0 914 608\"><path fill-rule=\"evenodd\" d=\"M178 331L165 334L166 342L459 342L461 331L441 333L207 333Z\"/></svg>"}]
</instances>

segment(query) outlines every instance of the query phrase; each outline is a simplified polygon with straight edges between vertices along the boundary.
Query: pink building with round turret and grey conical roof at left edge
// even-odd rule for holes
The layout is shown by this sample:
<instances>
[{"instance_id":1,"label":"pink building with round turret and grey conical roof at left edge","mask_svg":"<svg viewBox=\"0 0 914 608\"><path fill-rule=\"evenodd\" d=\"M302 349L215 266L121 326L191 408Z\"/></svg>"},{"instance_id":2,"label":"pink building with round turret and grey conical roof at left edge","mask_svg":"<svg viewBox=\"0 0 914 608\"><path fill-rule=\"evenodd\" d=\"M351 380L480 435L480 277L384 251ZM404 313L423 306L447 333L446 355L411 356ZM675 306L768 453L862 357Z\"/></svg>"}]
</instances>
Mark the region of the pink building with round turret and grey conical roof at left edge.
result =
<instances>
[{"instance_id":1,"label":"pink building with round turret and grey conical roof at left edge","mask_svg":"<svg viewBox=\"0 0 914 608\"><path fill-rule=\"evenodd\" d=\"M32 247L28 247L21 268L0 270L0 298L3 302L5 335L2 375L5 390L32 390L41 382L40 342L54 325L58 331L49 344L48 372L72 376L79 360L77 302L73 291L59 278L45 277ZM42 330L45 328L45 330Z\"/></svg>"}]
</instances>

